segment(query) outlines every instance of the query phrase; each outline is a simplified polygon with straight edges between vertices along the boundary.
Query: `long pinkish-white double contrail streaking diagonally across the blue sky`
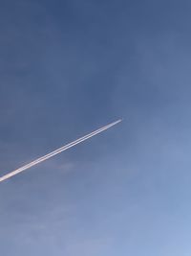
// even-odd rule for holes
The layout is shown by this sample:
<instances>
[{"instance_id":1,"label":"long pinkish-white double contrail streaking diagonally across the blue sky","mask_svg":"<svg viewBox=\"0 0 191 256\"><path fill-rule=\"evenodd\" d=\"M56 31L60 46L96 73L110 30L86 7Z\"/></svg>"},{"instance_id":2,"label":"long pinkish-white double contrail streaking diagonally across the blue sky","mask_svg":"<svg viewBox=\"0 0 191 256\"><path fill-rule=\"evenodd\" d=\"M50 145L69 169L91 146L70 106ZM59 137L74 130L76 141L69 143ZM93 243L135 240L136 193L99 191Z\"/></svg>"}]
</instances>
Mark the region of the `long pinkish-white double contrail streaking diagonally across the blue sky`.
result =
<instances>
[{"instance_id":1,"label":"long pinkish-white double contrail streaking diagonally across the blue sky","mask_svg":"<svg viewBox=\"0 0 191 256\"><path fill-rule=\"evenodd\" d=\"M29 164L27 164L27 165L25 165L23 167L20 167L20 168L12 171L11 173L9 173L7 175L1 176L0 177L0 182L10 178L13 175L17 175L17 174L19 174L19 173L21 173L21 172L31 168L32 166L37 165L37 164L39 164L39 163L41 163L41 162L43 162L43 161L53 157L53 155L55 155L55 154L58 154L58 153L60 153L62 151L66 151L66 150L74 147L75 145L77 145L77 144L79 144L79 143L81 143L81 142L83 142L83 141L85 141L85 140L95 136L96 134L98 134L98 133L100 133L100 132L102 132L102 131L104 131L104 130L106 130L108 128L111 128L111 127L117 125L121 121L122 120L119 119L116 122L113 122L113 123L111 123L111 124L109 124L109 125L107 125L107 126L105 126L103 128L98 128L95 131L93 131L93 132L91 132L91 133L89 133L89 134L87 134L87 135L85 135L85 136L75 140L74 142L71 142L71 143L69 143L69 144L67 144L67 145L65 145L65 146L63 146L63 147L61 147L61 148L59 148L59 149L57 149L55 151L52 151L52 152L50 152L48 154L45 154L44 156L37 158L36 160L32 161L31 163L29 163Z\"/></svg>"}]
</instances>

